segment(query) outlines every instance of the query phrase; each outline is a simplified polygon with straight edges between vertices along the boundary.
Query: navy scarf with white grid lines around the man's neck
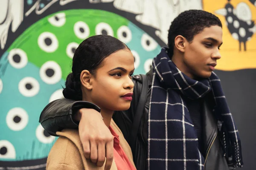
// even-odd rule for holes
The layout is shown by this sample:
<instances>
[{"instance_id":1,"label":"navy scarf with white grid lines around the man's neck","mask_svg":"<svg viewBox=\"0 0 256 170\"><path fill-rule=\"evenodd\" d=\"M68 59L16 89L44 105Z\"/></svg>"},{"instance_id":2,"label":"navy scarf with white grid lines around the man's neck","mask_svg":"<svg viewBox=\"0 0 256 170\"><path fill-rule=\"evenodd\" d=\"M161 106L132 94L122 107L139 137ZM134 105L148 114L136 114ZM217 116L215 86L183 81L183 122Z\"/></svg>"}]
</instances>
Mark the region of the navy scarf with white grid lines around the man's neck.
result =
<instances>
[{"instance_id":1,"label":"navy scarf with white grid lines around the man's neck","mask_svg":"<svg viewBox=\"0 0 256 170\"><path fill-rule=\"evenodd\" d=\"M212 92L213 113L223 122L226 134L224 151L232 148L234 163L241 167L241 144L215 73L209 79L196 81L183 74L169 59L166 48L153 60L154 74L148 113L148 170L204 170L204 157L198 150L198 138L186 104L180 94L190 99ZM228 146L230 144L230 146Z\"/></svg>"}]
</instances>

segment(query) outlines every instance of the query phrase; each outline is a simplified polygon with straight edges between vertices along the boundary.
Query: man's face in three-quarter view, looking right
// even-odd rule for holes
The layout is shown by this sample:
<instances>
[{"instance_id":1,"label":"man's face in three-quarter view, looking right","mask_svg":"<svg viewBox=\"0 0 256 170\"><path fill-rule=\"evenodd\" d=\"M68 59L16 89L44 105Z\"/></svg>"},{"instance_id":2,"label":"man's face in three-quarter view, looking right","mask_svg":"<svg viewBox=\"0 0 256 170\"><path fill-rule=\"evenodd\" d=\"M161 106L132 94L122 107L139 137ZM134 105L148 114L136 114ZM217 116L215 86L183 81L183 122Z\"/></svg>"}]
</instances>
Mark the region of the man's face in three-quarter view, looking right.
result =
<instances>
[{"instance_id":1,"label":"man's face in three-quarter view, looking right","mask_svg":"<svg viewBox=\"0 0 256 170\"><path fill-rule=\"evenodd\" d=\"M183 69L193 79L208 78L221 58L219 48L222 44L222 28L211 26L196 34L191 43L187 43Z\"/></svg>"}]
</instances>

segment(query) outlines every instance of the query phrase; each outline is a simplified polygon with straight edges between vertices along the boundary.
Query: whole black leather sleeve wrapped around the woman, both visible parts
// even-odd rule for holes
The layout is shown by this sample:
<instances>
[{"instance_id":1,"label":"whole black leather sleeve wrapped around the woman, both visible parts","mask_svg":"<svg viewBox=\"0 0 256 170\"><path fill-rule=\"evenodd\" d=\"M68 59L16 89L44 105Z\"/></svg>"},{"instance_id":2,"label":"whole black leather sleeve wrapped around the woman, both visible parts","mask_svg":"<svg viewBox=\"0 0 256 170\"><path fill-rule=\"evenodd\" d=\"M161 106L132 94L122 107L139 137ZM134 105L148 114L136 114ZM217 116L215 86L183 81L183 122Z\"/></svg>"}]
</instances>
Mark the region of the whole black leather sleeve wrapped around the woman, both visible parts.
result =
<instances>
[{"instance_id":1,"label":"whole black leather sleeve wrapped around the woman, both visible parts","mask_svg":"<svg viewBox=\"0 0 256 170\"><path fill-rule=\"evenodd\" d=\"M133 77L132 80L134 82L134 94L133 100L131 101L131 107L127 111L116 111L113 115L113 120L122 130L126 139L131 131L131 126L140 98L142 83L140 82L140 79L136 79L136 76ZM61 131L64 128L78 128L79 122L73 120L72 116L80 108L93 108L100 112L100 108L90 102L58 99L49 103L44 108L40 115L39 122L50 135L58 136L56 135L56 132Z\"/></svg>"}]
</instances>

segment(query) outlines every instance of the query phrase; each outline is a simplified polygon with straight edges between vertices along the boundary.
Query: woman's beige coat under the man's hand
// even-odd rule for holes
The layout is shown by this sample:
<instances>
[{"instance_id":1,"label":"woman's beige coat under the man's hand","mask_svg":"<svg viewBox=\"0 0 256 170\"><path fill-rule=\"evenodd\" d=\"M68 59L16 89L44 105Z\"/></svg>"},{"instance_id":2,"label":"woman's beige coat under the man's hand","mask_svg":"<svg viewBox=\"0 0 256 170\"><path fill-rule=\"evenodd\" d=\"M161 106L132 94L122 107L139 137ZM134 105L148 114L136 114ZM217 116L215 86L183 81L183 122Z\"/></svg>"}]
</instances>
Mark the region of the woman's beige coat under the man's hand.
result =
<instances>
[{"instance_id":1,"label":"woman's beige coat under the man's hand","mask_svg":"<svg viewBox=\"0 0 256 170\"><path fill-rule=\"evenodd\" d=\"M134 165L131 148L113 119L111 120L111 127L119 135L120 145ZM49 153L46 165L47 170L104 170L105 163L102 167L97 167L96 164L84 157L78 130L64 129L62 132L57 132L57 135L60 137ZM117 170L114 160L111 170Z\"/></svg>"}]
</instances>

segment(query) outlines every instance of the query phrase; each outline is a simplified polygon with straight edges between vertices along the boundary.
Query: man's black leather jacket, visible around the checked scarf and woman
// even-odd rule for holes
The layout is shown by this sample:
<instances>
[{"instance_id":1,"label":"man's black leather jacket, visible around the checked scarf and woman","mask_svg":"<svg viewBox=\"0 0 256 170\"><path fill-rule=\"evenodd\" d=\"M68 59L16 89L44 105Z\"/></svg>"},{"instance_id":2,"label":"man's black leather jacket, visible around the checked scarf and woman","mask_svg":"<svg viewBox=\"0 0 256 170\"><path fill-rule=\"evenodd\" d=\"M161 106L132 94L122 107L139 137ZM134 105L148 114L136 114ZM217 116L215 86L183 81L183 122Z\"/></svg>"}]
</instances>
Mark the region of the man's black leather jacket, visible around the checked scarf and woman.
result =
<instances>
[{"instance_id":1,"label":"man's black leather jacket, visible around the checked scarf and woman","mask_svg":"<svg viewBox=\"0 0 256 170\"><path fill-rule=\"evenodd\" d=\"M147 74L148 82L151 84L152 72ZM127 111L116 111L113 120L122 130L125 139L129 142L130 131L136 113L137 104L140 97L142 82L140 77L134 76L134 95L131 107ZM147 138L148 138L148 108L151 85L148 87L148 96L145 104L143 117L138 130L136 145L133 148L133 158L137 170L146 169ZM204 102L204 114L202 122L202 132L204 140L205 170L235 170L233 164L228 164L227 158L223 156L220 138L218 137L217 120L212 115L212 109ZM40 123L51 135L63 128L77 128L78 124L72 120L72 114L79 108L93 108L93 105L84 101L73 101L70 99L58 99L49 103L41 113Z\"/></svg>"}]
</instances>

